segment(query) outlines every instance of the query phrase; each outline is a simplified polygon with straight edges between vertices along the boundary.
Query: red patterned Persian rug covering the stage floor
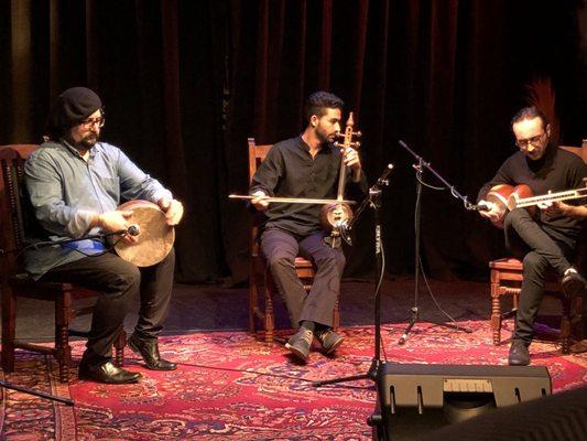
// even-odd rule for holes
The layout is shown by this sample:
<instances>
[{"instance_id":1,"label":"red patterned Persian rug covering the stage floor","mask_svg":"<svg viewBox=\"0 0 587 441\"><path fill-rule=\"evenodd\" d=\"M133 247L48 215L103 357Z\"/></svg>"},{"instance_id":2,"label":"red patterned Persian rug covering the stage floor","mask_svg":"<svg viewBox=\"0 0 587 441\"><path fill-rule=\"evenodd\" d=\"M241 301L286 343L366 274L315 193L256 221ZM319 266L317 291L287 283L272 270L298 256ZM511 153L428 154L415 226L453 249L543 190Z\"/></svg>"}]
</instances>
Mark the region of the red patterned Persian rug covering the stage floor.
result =
<instances>
[{"instance_id":1,"label":"red patterned Persian rug covering the stage floor","mask_svg":"<svg viewBox=\"0 0 587 441\"><path fill-rule=\"evenodd\" d=\"M404 324L383 326L389 363L504 365L508 344L493 346L487 321L463 322L472 334L418 323L404 346ZM373 355L372 327L347 327L334 358L313 352L295 363L279 344L268 347L246 332L209 332L161 338L175 372L152 372L127 353L127 367L143 374L137 385L74 380L62 385L55 363L20 352L14 385L75 400L75 407L2 389L2 440L369 440L366 423L376 402L369 380L314 388L312 380L363 374ZM503 333L508 337L508 332ZM74 344L79 359L84 342ZM555 391L587 384L587 355L562 356L535 342L532 363L547 366ZM75 375L75 373L73 373Z\"/></svg>"}]
</instances>

